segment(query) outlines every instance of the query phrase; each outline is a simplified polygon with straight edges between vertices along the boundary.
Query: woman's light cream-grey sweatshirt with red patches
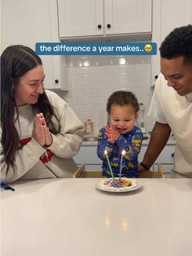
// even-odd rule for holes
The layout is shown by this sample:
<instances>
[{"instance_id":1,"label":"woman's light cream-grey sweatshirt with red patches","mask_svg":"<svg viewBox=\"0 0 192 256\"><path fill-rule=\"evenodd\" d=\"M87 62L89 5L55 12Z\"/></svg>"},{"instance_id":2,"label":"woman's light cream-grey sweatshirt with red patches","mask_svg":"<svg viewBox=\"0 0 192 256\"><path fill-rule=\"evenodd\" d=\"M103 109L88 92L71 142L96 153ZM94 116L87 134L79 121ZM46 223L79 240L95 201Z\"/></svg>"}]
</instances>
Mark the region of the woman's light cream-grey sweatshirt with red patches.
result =
<instances>
[{"instance_id":1,"label":"woman's light cream-grey sweatshirt with red patches","mask_svg":"<svg viewBox=\"0 0 192 256\"><path fill-rule=\"evenodd\" d=\"M72 177L72 173L77 169L77 164L72 157L76 156L81 147L84 125L65 100L54 92L48 90L45 92L60 120L61 134L52 134L52 144L45 149L31 138L36 115L33 113L31 104L19 107L19 122L18 120L15 122L15 127L19 132L20 140L31 138L31 141L17 150L15 170L10 166L7 174L1 145L1 182L9 183L17 179ZM54 117L52 120L55 121L54 124L58 123ZM53 154L51 158L48 157L50 153ZM40 158L49 159L49 161L43 163Z\"/></svg>"}]
</instances>

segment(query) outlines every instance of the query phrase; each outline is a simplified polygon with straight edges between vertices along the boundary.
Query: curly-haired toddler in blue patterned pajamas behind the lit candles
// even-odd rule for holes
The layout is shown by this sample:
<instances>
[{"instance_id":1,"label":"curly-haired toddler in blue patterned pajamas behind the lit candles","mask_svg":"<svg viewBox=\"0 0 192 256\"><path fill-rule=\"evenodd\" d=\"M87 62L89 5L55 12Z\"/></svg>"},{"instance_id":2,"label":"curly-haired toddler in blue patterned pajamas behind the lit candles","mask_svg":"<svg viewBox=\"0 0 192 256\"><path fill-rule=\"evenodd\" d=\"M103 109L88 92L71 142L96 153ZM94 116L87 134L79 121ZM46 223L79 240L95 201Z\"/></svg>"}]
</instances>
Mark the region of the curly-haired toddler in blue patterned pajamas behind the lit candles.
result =
<instances>
[{"instance_id":1,"label":"curly-haired toddler in blue patterned pajamas behind the lit candles","mask_svg":"<svg viewBox=\"0 0 192 256\"><path fill-rule=\"evenodd\" d=\"M100 129L98 134L97 156L103 161L104 177L111 177L104 151L108 152L114 177L119 177L122 151L122 177L138 177L138 154L141 150L143 133L135 125L139 104L132 92L117 91L108 99L107 111L109 125Z\"/></svg>"}]
</instances>

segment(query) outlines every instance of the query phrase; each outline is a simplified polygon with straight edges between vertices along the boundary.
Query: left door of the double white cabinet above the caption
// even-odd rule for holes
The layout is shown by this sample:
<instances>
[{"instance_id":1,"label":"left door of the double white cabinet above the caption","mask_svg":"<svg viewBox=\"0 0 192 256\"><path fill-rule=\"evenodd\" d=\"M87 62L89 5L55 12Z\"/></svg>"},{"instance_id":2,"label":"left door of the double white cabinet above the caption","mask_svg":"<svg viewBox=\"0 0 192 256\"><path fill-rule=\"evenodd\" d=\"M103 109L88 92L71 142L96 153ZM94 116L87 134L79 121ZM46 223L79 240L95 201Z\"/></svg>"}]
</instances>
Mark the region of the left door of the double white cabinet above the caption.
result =
<instances>
[{"instance_id":1,"label":"left door of the double white cabinet above the caption","mask_svg":"<svg viewBox=\"0 0 192 256\"><path fill-rule=\"evenodd\" d=\"M103 35L103 0L58 0L60 37Z\"/></svg>"}]
</instances>

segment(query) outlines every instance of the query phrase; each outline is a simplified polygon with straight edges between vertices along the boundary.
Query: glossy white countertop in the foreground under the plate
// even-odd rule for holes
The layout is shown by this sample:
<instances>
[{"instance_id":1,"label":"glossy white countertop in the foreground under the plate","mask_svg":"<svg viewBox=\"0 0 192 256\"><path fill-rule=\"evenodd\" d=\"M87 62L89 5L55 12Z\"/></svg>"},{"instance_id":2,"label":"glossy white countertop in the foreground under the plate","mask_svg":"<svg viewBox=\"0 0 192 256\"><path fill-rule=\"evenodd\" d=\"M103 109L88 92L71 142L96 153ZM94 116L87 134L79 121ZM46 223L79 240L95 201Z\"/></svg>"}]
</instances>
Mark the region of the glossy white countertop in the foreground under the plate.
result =
<instances>
[{"instance_id":1,"label":"glossy white countertop in the foreground under the plate","mask_svg":"<svg viewBox=\"0 0 192 256\"><path fill-rule=\"evenodd\" d=\"M143 188L126 193L99 191L96 182L1 189L1 255L191 255L192 179L141 179Z\"/></svg>"}]
</instances>

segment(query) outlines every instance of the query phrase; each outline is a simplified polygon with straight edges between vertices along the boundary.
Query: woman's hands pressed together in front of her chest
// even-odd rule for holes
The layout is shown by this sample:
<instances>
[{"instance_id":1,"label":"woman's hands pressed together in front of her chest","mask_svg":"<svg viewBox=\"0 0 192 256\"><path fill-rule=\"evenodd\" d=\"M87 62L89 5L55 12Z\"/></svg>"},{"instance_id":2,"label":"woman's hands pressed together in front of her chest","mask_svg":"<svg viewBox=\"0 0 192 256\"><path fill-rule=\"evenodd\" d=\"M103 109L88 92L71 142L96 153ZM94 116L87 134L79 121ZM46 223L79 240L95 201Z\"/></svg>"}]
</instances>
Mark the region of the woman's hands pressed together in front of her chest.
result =
<instances>
[{"instance_id":1,"label":"woman's hands pressed together in front of her chest","mask_svg":"<svg viewBox=\"0 0 192 256\"><path fill-rule=\"evenodd\" d=\"M43 113L36 114L34 118L32 137L42 147L49 147L52 144L52 135L49 132Z\"/></svg>"}]
</instances>

